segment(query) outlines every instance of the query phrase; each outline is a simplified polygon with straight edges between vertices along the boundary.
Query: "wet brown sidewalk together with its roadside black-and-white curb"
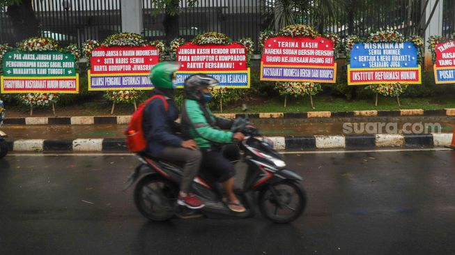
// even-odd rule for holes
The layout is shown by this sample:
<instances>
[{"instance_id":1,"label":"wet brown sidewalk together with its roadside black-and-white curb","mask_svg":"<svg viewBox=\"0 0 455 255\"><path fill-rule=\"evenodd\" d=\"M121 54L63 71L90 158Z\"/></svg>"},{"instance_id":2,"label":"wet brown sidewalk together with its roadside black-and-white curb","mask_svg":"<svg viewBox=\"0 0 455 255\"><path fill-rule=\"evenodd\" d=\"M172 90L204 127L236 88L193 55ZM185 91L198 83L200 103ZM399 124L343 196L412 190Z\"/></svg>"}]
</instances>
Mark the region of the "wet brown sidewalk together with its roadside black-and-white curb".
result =
<instances>
[{"instance_id":1,"label":"wet brown sidewalk together with its roadside black-and-white curb","mask_svg":"<svg viewBox=\"0 0 455 255\"><path fill-rule=\"evenodd\" d=\"M250 121L275 141L277 150L433 148L451 143L455 117L251 118ZM392 123L398 133L346 132L345 123ZM406 123L422 126L438 123L442 128L440 133L428 130L424 134L401 134ZM7 141L13 151L127 152L125 127L126 124L4 125L1 129L8 134Z\"/></svg>"}]
</instances>

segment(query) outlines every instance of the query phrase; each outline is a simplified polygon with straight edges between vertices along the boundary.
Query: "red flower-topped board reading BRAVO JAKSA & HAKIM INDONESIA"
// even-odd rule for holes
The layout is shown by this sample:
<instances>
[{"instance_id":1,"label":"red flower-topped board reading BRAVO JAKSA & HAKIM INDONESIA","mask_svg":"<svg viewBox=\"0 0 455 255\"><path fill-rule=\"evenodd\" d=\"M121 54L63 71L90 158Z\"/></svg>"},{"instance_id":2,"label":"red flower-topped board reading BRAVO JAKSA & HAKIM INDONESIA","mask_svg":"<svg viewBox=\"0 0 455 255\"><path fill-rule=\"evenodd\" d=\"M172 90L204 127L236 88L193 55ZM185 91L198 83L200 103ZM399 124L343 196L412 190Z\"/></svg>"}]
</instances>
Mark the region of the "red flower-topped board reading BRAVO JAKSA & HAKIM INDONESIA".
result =
<instances>
[{"instance_id":1,"label":"red flower-topped board reading BRAVO JAKSA & HAKIM INDONESIA","mask_svg":"<svg viewBox=\"0 0 455 255\"><path fill-rule=\"evenodd\" d=\"M110 36L89 54L89 91L151 90L148 77L160 61L157 47L147 45L142 36L120 33Z\"/></svg>"}]
</instances>

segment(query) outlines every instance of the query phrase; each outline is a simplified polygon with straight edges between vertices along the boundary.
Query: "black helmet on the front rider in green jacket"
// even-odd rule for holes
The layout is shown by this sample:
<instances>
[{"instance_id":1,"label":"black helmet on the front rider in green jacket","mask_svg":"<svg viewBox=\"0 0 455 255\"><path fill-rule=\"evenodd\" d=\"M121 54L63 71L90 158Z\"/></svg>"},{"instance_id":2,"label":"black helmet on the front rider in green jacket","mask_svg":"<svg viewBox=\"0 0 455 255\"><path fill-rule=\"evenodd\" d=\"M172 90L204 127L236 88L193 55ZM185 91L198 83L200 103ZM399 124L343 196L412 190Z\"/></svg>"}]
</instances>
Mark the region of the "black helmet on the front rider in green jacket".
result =
<instances>
[{"instance_id":1,"label":"black helmet on the front rider in green jacket","mask_svg":"<svg viewBox=\"0 0 455 255\"><path fill-rule=\"evenodd\" d=\"M208 75L196 74L191 75L185 79L185 85L183 86L183 92L185 97L192 100L201 100L203 98L202 89L207 87L213 87L218 84L217 79Z\"/></svg>"}]
</instances>

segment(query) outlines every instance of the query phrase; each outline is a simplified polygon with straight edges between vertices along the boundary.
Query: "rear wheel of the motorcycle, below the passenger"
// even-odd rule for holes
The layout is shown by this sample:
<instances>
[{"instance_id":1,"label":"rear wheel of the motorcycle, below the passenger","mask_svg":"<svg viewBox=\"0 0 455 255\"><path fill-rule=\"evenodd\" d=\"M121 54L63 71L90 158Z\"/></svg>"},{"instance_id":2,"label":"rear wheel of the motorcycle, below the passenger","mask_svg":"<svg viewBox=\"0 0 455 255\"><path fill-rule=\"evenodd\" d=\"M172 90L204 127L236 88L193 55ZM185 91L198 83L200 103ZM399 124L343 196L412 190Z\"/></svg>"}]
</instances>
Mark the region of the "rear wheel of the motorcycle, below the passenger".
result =
<instances>
[{"instance_id":1,"label":"rear wheel of the motorcycle, below the passenger","mask_svg":"<svg viewBox=\"0 0 455 255\"><path fill-rule=\"evenodd\" d=\"M162 222L175 215L178 187L160 176L146 176L134 188L134 203L144 217Z\"/></svg>"}]
</instances>

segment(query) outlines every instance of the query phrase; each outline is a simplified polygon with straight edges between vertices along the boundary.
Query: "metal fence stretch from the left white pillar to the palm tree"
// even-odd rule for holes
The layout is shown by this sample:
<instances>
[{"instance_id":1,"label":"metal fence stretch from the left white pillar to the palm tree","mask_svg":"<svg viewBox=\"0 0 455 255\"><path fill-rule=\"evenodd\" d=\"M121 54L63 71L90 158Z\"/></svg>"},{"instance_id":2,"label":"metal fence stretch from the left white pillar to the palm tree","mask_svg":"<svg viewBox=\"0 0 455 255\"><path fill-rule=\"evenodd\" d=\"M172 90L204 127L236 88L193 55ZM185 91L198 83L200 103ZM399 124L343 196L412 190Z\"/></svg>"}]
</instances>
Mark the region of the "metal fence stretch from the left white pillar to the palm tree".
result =
<instances>
[{"instance_id":1,"label":"metal fence stretch from the left white pillar to the palm tree","mask_svg":"<svg viewBox=\"0 0 455 255\"><path fill-rule=\"evenodd\" d=\"M164 10L157 9L151 0L143 1L144 36L150 40L163 39ZM268 24L264 19L261 0L199 0L189 6L180 0L179 36L190 40L208 31L226 33L233 40L249 37L256 41L259 32Z\"/></svg>"}]
</instances>

